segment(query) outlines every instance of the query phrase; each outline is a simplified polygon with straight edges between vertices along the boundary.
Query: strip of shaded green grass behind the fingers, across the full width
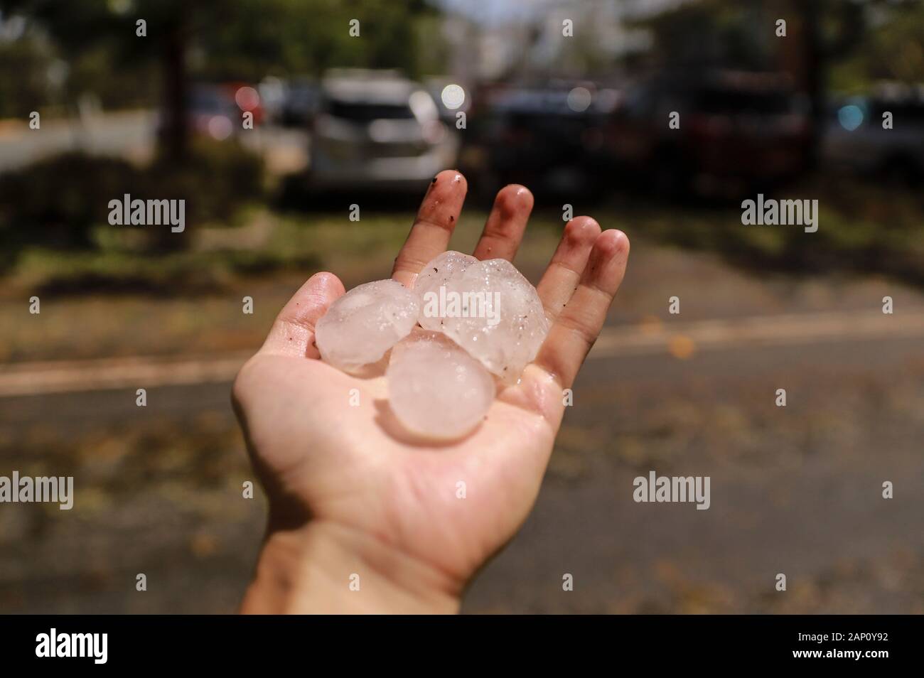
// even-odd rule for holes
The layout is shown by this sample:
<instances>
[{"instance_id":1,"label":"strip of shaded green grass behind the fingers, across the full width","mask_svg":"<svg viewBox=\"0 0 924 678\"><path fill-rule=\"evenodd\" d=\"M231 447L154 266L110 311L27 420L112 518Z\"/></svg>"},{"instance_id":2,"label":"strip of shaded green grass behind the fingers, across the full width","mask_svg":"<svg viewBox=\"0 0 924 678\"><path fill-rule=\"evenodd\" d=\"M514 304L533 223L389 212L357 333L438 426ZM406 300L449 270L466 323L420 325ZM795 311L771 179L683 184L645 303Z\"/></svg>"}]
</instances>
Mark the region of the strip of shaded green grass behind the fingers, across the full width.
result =
<instances>
[{"instance_id":1,"label":"strip of shaded green grass behind the fingers, across the full width","mask_svg":"<svg viewBox=\"0 0 924 678\"><path fill-rule=\"evenodd\" d=\"M880 272L924 285L924 200L914 191L819 177L780 197L817 198L818 232L744 226L736 203L656 205L616 193L608 204L587 211L604 228L621 228L652 243L715 251L752 271ZM575 208L581 211L580 205ZM451 247L473 248L485 216L478 209L462 212ZM243 225L196 228L184 234L191 247L164 253L146 250L137 231L100 225L93 231L95 249L21 252L6 286L16 294L138 291L174 296L219 292L261 275L319 268L368 280L369 272L388 272L412 221L411 211L374 207L364 209L361 221L350 222L346 210L274 212L251 206L232 223ZM561 226L558 212L535 213L517 263L527 270L544 263ZM241 231L254 233L248 239ZM210 236L207 243L203 235Z\"/></svg>"}]
</instances>

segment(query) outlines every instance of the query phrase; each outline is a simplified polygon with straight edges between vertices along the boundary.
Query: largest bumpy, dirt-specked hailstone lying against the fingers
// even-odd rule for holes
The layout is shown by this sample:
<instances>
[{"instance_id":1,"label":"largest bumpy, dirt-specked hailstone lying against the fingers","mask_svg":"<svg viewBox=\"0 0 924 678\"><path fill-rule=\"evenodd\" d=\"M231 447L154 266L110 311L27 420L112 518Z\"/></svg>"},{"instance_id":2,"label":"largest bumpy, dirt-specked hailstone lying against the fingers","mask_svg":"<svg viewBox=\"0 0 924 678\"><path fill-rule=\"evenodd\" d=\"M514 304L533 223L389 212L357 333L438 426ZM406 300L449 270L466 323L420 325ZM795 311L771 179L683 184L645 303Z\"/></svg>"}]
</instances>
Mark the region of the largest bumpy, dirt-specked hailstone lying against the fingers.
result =
<instances>
[{"instance_id":1,"label":"largest bumpy, dirt-specked hailstone lying against the fingers","mask_svg":"<svg viewBox=\"0 0 924 678\"><path fill-rule=\"evenodd\" d=\"M447 252L441 255L444 261L447 255L465 256ZM439 260L427 264L425 271L439 269ZM549 333L536 288L507 260L453 261L454 269L436 285L444 290L437 289L438 296L429 297L429 304L421 295L421 324L426 319L503 381L516 383ZM439 323L433 321L434 314Z\"/></svg>"}]
</instances>

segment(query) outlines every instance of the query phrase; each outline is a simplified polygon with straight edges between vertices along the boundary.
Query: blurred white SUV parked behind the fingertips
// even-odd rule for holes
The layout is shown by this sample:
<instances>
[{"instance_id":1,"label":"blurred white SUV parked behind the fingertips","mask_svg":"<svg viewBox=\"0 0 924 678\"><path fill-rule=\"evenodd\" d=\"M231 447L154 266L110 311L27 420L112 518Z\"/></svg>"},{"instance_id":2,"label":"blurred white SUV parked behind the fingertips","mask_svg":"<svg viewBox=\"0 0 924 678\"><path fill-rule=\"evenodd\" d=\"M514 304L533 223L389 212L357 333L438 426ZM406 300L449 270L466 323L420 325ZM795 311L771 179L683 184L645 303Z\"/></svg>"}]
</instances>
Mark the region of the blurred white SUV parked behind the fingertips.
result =
<instances>
[{"instance_id":1,"label":"blurred white SUV parked behind the fingertips","mask_svg":"<svg viewBox=\"0 0 924 678\"><path fill-rule=\"evenodd\" d=\"M311 188L419 190L456 163L432 96L392 71L335 70L311 125Z\"/></svg>"}]
</instances>

